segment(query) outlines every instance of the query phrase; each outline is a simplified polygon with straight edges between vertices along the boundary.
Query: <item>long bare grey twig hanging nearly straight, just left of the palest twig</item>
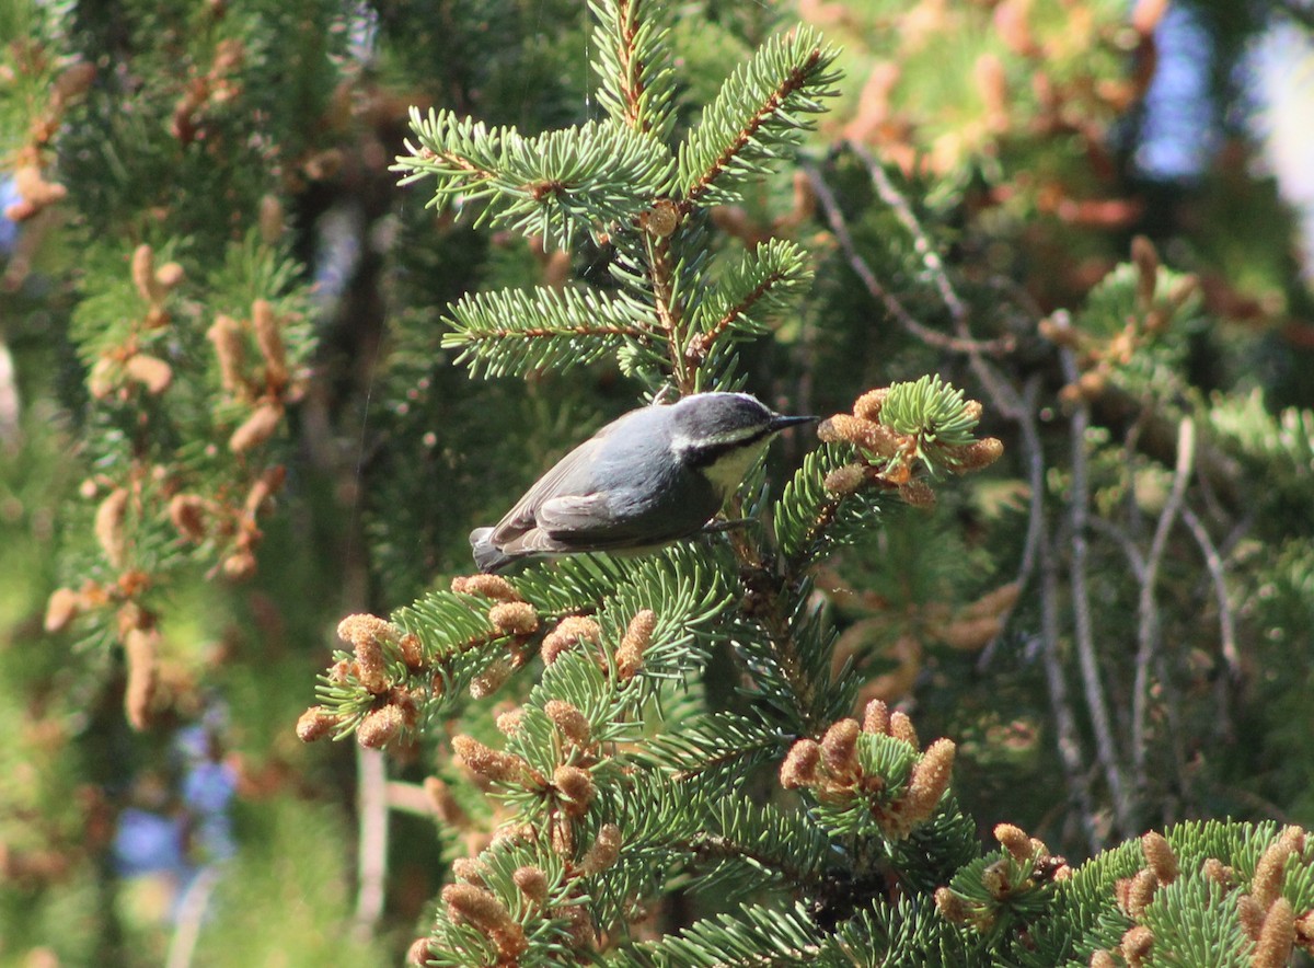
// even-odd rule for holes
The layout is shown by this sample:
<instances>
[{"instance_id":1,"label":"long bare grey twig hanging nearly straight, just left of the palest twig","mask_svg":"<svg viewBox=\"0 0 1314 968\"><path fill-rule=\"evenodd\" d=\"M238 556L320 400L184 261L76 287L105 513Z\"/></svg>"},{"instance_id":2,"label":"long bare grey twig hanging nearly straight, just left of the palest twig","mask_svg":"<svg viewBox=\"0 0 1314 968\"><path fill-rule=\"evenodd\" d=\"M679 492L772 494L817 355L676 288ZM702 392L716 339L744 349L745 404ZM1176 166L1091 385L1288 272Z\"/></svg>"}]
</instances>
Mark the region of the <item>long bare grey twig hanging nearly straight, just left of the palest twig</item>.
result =
<instances>
[{"instance_id":1,"label":"long bare grey twig hanging nearly straight, just left of the palest twig","mask_svg":"<svg viewBox=\"0 0 1314 968\"><path fill-rule=\"evenodd\" d=\"M1062 315L1055 317L1062 320ZM1060 322L1062 324L1062 322ZM1063 376L1068 382L1076 382L1080 376L1076 353L1063 347L1059 349ZM1081 688L1091 715L1091 728L1095 730L1095 750L1109 784L1113 801L1113 816L1118 834L1130 837L1131 800L1126 780L1118 763L1117 747L1113 741L1113 728L1109 721L1108 700L1104 682L1100 679L1100 663L1095 654L1095 628L1091 620L1091 592L1087 586L1087 539L1091 485L1087 477L1085 433L1091 424L1091 407L1079 401L1072 414L1070 439L1072 445L1072 496L1068 502L1068 521L1072 529L1072 556L1070 581L1072 583L1072 617L1075 623L1077 663L1081 667Z\"/></svg>"}]
</instances>

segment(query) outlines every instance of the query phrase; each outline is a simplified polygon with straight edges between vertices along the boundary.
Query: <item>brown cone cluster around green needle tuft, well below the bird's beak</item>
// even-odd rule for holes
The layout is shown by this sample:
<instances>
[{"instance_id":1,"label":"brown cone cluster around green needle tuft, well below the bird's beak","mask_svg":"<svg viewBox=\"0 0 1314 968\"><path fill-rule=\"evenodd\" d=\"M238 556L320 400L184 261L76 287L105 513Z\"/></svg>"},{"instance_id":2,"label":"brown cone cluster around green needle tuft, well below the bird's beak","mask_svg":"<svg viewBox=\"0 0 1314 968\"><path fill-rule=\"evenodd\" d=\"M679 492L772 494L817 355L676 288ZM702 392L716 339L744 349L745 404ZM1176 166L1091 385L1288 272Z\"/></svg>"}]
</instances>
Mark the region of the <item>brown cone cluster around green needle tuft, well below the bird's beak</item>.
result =
<instances>
[{"instance_id":1,"label":"brown cone cluster around green needle tuft, well below the bird's beak","mask_svg":"<svg viewBox=\"0 0 1314 968\"><path fill-rule=\"evenodd\" d=\"M907 726L897 725L907 722ZM867 729L866 726L870 726ZM863 734L886 734L903 739L916 734L903 713L890 715L884 703L872 700L863 715L863 726L845 718L830 725L821 741L803 738L794 743L781 764L781 785L787 789L808 788L823 804L844 805L865 800L871 816L888 837L901 839L913 827L934 814L949 788L954 764L954 743L937 739L913 764L907 783L892 795L888 779L869 774L862 766L859 749Z\"/></svg>"}]
</instances>

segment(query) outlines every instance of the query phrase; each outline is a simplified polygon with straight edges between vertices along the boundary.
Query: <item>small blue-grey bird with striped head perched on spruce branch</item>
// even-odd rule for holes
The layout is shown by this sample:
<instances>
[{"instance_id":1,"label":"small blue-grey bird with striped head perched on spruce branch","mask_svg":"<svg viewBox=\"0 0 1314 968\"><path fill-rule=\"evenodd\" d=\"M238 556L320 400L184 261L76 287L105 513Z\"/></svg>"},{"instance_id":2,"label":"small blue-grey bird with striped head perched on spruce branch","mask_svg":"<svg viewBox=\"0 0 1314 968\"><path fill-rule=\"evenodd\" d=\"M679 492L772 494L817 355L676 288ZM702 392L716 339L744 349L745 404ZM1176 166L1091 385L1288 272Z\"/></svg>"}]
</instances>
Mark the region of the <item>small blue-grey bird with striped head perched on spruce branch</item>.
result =
<instances>
[{"instance_id":1,"label":"small blue-grey bird with striped head perched on spruce branch","mask_svg":"<svg viewBox=\"0 0 1314 968\"><path fill-rule=\"evenodd\" d=\"M746 393L696 393L631 410L576 447L491 528L470 532L480 571L586 552L636 553L690 537L787 427Z\"/></svg>"}]
</instances>

